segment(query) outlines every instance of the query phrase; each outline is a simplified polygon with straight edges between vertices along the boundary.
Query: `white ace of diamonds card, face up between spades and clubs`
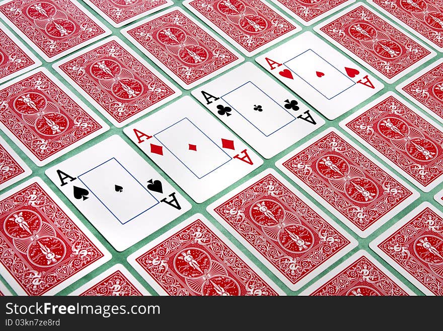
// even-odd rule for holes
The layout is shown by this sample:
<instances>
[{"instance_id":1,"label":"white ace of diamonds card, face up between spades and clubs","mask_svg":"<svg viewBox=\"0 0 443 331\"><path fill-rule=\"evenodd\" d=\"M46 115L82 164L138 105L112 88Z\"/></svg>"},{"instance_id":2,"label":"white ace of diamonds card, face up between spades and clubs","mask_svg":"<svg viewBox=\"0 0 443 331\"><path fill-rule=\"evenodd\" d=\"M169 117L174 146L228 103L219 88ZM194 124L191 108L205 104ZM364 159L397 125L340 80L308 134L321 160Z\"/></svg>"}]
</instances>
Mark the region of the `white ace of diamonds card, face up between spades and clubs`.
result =
<instances>
[{"instance_id":1,"label":"white ace of diamonds card, face up between spades and clubs","mask_svg":"<svg viewBox=\"0 0 443 331\"><path fill-rule=\"evenodd\" d=\"M190 97L123 131L197 203L263 164Z\"/></svg>"}]
</instances>

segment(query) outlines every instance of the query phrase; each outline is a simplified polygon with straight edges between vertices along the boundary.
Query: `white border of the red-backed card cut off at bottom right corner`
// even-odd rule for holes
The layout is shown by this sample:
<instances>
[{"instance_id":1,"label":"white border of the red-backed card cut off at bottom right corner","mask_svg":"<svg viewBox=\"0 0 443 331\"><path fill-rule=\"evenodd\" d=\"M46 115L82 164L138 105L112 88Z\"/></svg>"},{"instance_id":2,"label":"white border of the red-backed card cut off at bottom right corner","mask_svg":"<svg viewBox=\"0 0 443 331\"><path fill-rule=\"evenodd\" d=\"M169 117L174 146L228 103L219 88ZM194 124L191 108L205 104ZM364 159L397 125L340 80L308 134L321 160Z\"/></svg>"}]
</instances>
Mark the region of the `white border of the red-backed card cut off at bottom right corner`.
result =
<instances>
[{"instance_id":1,"label":"white border of the red-backed card cut off at bottom right corner","mask_svg":"<svg viewBox=\"0 0 443 331\"><path fill-rule=\"evenodd\" d=\"M435 295L429 289L427 289L424 285L422 285L419 281L417 281L412 275L410 275L407 271L403 269L400 264L398 264L394 259L392 259L389 255L383 252L379 247L377 247L383 240L392 235L395 231L400 229L406 223L411 221L411 218L419 214L423 209L430 208L434 213L438 214L441 218L443 218L443 213L441 213L437 208L432 206L429 202L421 203L419 206L414 208L411 212L409 212L405 217L391 226L388 230L383 232L380 236L370 242L369 247L375 251L381 258L383 258L387 263L389 263L395 270L397 270L404 278L406 278L409 282L411 282L416 288L418 288L421 292L426 295Z\"/></svg>"}]
</instances>

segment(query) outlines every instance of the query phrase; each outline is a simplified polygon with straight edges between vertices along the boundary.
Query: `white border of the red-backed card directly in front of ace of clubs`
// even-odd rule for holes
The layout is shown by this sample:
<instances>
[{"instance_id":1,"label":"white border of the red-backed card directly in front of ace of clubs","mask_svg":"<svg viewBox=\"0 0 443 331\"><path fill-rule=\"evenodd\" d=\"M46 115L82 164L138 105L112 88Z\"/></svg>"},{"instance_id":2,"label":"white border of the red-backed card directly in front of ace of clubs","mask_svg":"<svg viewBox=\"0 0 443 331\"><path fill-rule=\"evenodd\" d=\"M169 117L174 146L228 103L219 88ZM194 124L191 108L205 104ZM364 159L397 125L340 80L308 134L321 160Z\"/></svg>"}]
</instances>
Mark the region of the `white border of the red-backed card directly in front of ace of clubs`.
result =
<instances>
[{"instance_id":1,"label":"white border of the red-backed card directly in front of ace of clubs","mask_svg":"<svg viewBox=\"0 0 443 331\"><path fill-rule=\"evenodd\" d=\"M374 164L376 164L379 168L383 169L388 175L390 175L392 178L394 178L396 181L398 181L400 184L405 186L407 189L409 189L412 192L412 195L406 198L401 204L396 206L395 208L391 209L388 213L386 213L381 219L373 223L370 227L365 229L364 231L361 231L356 225L351 223L349 220L344 218L343 215L341 215L340 212L338 212L335 208L333 208L325 199L319 195L316 191L314 191L312 188L310 188L304 181L300 180L297 176L294 176L289 170L287 170L283 163L286 162L288 159L292 158L294 155L300 153L305 148L309 147L322 137L326 136L327 134L334 132L336 135L341 136L347 144L351 145L353 148L355 148L358 152L360 152L363 156L365 156L367 159L372 160ZM393 174L390 170L386 168L386 166L383 163L377 162L373 160L374 158L367 154L366 151L358 147L354 142L352 142L350 139L343 137L341 132L337 130L336 128L330 127L326 130L323 130L321 133L319 133L314 138L307 141L302 146L299 146L298 148L292 150L285 156L283 156L281 159L277 160L275 162L275 166L281 170L286 176L288 176L291 180L293 180L297 185L299 185L303 190L305 190L310 196L318 198L318 202L323 206L323 208L327 209L331 214L333 214L335 217L337 217L341 222L343 222L349 229L351 229L353 232L355 232L359 237L366 238L368 235L373 233L375 230L380 228L383 224L390 221L392 218L394 218L400 211L402 211L404 208L407 208L412 202L417 200L417 198L420 196L420 194L413 188L411 185L407 184L404 180L400 179L397 175Z\"/></svg>"}]
</instances>

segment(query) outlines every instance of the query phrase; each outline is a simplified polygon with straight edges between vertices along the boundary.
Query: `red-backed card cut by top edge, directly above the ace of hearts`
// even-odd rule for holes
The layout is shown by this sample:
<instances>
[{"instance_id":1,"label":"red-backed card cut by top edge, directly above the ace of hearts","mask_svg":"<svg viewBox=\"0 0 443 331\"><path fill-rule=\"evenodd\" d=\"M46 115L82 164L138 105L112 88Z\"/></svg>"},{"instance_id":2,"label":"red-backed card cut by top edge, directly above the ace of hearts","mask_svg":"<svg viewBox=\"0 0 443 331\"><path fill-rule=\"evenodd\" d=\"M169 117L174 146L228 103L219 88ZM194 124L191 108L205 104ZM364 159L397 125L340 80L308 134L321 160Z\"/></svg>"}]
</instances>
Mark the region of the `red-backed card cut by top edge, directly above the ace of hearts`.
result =
<instances>
[{"instance_id":1,"label":"red-backed card cut by top edge, directly above the ace of hearts","mask_svg":"<svg viewBox=\"0 0 443 331\"><path fill-rule=\"evenodd\" d=\"M355 0L272 0L304 25L311 25L352 4Z\"/></svg>"}]
</instances>

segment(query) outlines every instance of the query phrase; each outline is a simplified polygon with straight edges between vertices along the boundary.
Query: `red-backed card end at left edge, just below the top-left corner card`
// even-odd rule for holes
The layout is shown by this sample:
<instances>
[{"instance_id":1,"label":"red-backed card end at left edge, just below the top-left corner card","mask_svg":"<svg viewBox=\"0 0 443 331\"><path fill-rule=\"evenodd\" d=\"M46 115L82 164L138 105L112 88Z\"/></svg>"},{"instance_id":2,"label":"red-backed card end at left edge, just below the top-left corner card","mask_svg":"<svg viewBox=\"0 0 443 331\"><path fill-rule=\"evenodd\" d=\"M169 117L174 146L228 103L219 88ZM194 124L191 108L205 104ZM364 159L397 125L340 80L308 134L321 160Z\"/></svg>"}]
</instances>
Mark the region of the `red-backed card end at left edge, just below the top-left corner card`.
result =
<instances>
[{"instance_id":1,"label":"red-backed card end at left edge, just below the top-left corner card","mask_svg":"<svg viewBox=\"0 0 443 331\"><path fill-rule=\"evenodd\" d=\"M41 61L0 22L0 80L6 82L41 65Z\"/></svg>"}]
</instances>

